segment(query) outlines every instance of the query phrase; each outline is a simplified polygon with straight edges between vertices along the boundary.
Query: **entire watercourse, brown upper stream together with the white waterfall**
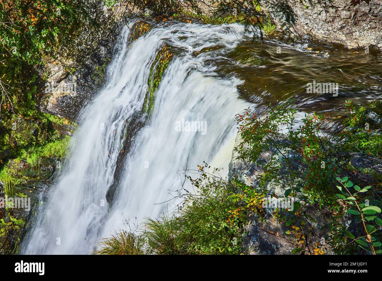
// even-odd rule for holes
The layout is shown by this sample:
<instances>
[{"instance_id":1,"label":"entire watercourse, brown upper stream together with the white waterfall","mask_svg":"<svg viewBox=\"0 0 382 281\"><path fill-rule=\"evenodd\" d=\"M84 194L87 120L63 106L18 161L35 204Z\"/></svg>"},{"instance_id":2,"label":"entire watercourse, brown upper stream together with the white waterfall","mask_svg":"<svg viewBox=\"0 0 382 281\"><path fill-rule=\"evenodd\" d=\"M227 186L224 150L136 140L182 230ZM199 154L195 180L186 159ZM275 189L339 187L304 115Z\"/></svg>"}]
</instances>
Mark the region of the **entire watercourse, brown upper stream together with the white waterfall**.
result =
<instances>
[{"instance_id":1,"label":"entire watercourse, brown upper stream together with the white waterfall","mask_svg":"<svg viewBox=\"0 0 382 281\"><path fill-rule=\"evenodd\" d=\"M99 239L124 229L126 219L141 222L176 206L176 200L168 201L169 190L180 187L183 167L207 161L227 174L237 132L234 117L249 106L294 97L300 112L337 116L346 99L381 96L381 54L314 42L251 42L243 39L242 26L230 28L157 24L131 44L130 29L123 29L107 83L81 111L68 159L45 194L48 200L41 203L21 253L92 252ZM154 106L142 115L147 81L163 46L173 57ZM308 95L306 83L312 80L338 83L339 95ZM186 122L199 127L188 130ZM125 135L131 140L128 151Z\"/></svg>"}]
</instances>

